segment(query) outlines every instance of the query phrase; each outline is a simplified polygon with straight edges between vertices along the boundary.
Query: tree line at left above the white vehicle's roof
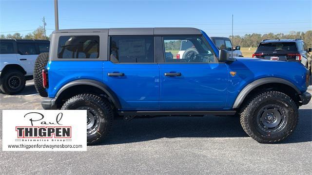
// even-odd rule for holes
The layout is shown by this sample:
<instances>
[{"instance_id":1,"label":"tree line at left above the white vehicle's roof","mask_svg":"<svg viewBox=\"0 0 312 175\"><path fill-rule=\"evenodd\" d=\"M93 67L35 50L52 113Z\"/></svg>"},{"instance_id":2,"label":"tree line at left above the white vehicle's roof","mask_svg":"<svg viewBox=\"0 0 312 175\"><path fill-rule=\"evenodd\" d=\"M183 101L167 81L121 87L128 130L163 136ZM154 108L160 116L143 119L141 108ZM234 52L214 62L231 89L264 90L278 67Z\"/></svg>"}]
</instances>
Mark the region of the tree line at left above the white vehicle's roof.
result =
<instances>
[{"instance_id":1,"label":"tree line at left above the white vehicle's roof","mask_svg":"<svg viewBox=\"0 0 312 175\"><path fill-rule=\"evenodd\" d=\"M39 26L35 31L28 33L26 35L21 35L20 33L14 33L12 34L1 34L0 39L48 39L50 40L49 36L44 37L44 29L42 26Z\"/></svg>"}]
</instances>

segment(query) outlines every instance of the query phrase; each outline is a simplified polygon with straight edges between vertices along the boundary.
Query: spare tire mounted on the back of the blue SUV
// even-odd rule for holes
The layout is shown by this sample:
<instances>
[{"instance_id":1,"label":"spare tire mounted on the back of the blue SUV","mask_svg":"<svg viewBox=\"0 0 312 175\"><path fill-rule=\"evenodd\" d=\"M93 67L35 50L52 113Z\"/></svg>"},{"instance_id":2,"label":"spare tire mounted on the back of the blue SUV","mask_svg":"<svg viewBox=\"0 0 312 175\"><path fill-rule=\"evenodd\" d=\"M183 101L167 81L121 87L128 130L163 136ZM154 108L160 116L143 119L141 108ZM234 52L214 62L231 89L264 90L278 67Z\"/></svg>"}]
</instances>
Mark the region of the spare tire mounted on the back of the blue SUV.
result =
<instances>
[{"instance_id":1,"label":"spare tire mounted on the back of the blue SUV","mask_svg":"<svg viewBox=\"0 0 312 175\"><path fill-rule=\"evenodd\" d=\"M44 70L49 61L49 53L40 53L35 62L34 83L37 92L41 97L47 97L48 93L42 84L42 70Z\"/></svg>"}]
</instances>

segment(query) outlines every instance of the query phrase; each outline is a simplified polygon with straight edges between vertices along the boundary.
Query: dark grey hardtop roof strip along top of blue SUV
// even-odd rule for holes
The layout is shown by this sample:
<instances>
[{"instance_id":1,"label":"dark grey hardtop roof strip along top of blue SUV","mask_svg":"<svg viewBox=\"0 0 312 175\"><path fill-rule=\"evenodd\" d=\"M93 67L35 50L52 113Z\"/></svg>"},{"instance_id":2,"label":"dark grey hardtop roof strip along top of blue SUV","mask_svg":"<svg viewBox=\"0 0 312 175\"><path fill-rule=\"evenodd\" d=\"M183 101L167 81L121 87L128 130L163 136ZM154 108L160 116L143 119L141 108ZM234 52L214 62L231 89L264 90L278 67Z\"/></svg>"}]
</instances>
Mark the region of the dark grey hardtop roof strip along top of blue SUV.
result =
<instances>
[{"instance_id":1,"label":"dark grey hardtop roof strip along top of blue SUV","mask_svg":"<svg viewBox=\"0 0 312 175\"><path fill-rule=\"evenodd\" d=\"M108 35L201 35L199 29L184 27L164 28L110 28L110 29L65 29L53 33L97 33L106 32Z\"/></svg>"}]
</instances>

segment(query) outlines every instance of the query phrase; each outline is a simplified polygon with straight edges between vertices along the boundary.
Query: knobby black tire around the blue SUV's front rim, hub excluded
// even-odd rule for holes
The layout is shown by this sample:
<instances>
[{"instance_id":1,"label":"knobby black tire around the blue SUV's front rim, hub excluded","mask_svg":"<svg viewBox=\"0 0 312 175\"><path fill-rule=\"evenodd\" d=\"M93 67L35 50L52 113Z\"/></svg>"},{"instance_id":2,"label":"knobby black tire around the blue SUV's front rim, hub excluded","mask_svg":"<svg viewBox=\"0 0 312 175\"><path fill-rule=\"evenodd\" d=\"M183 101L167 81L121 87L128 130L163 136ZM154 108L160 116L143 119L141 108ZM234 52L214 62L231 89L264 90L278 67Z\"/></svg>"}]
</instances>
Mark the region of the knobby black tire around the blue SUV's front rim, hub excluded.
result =
<instances>
[{"instance_id":1,"label":"knobby black tire around the blue SUV's front rim, hub excluded","mask_svg":"<svg viewBox=\"0 0 312 175\"><path fill-rule=\"evenodd\" d=\"M276 129L276 132L263 131L263 127L257 123L261 109L270 105L274 109L276 105L280 106L281 114L284 115L281 118L286 119L286 123L283 122L284 124L281 125L283 127L279 130ZM293 132L298 123L298 106L292 98L282 92L274 90L262 91L243 105L240 111L240 123L244 131L259 143L275 143L284 140Z\"/></svg>"}]
</instances>

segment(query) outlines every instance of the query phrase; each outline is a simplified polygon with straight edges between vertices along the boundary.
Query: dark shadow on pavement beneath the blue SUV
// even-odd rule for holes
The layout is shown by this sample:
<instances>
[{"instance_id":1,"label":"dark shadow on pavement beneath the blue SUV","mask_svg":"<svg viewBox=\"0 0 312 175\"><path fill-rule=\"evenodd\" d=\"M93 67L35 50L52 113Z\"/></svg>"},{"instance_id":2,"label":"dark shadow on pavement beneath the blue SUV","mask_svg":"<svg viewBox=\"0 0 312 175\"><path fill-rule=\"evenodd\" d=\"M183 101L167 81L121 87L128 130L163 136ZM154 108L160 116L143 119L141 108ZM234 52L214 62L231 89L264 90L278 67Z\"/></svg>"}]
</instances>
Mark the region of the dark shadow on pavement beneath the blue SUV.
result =
<instances>
[{"instance_id":1,"label":"dark shadow on pavement beneath the blue SUV","mask_svg":"<svg viewBox=\"0 0 312 175\"><path fill-rule=\"evenodd\" d=\"M238 117L159 117L115 120L111 135L102 145L133 143L161 138L236 138L249 137ZM289 138L280 144L312 141L312 109L299 109L299 123Z\"/></svg>"}]
</instances>

